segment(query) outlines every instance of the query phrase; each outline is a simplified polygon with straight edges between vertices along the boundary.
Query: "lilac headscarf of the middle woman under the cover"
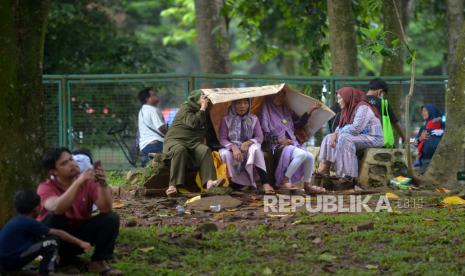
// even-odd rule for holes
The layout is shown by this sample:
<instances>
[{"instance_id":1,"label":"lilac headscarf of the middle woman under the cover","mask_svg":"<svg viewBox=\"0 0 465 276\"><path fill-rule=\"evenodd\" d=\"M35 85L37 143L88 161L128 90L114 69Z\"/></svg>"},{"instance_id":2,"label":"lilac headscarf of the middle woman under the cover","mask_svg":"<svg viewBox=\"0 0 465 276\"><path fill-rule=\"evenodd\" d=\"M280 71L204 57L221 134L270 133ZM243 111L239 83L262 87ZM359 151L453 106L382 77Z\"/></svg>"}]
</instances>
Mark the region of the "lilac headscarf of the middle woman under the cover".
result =
<instances>
[{"instance_id":1,"label":"lilac headscarf of the middle woman under the cover","mask_svg":"<svg viewBox=\"0 0 465 276\"><path fill-rule=\"evenodd\" d=\"M256 124L256 117L250 114L250 108L252 101L247 99L249 102L249 109L246 114L240 116L236 112L236 102L233 101L229 106L228 115L225 117L226 125L228 126L229 133L228 139L234 144L240 145L242 142L252 139L254 136L253 129Z\"/></svg>"}]
</instances>

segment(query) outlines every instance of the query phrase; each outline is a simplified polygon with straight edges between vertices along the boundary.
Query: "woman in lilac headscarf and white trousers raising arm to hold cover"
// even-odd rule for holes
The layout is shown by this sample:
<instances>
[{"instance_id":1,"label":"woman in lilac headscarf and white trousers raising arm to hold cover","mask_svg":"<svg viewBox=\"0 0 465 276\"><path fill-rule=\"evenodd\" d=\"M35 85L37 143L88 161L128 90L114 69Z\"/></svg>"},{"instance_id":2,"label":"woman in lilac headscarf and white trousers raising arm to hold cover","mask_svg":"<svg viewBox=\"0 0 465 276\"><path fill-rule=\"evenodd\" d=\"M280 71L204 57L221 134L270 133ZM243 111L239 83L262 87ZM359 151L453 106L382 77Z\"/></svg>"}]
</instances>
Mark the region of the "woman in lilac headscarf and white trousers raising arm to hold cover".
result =
<instances>
[{"instance_id":1,"label":"woman in lilac headscarf and white trousers raising arm to hold cover","mask_svg":"<svg viewBox=\"0 0 465 276\"><path fill-rule=\"evenodd\" d=\"M276 185L282 190L295 190L297 188L293 183L303 176L307 193L325 192L325 189L310 184L314 157L295 136L295 128L305 126L311 113L320 108L321 104L314 106L301 118L297 118L286 106L285 99L285 91L268 96L259 114L262 130L271 144L274 160L279 160L275 168Z\"/></svg>"}]
</instances>

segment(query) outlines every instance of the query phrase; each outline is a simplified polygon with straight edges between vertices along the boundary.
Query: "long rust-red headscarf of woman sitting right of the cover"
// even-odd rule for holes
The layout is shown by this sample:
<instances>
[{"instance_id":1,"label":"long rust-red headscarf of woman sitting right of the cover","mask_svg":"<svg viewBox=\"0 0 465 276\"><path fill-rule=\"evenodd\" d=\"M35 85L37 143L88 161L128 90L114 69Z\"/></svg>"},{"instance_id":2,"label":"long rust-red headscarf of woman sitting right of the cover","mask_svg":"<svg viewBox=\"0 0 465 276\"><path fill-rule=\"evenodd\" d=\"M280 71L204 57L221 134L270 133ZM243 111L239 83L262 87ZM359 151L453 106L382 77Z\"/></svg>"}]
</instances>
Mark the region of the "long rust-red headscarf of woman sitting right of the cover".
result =
<instances>
[{"instance_id":1,"label":"long rust-red headscarf of woman sitting right of the cover","mask_svg":"<svg viewBox=\"0 0 465 276\"><path fill-rule=\"evenodd\" d=\"M339 127L352 124L355 118L355 111L359 106L367 105L371 108L375 116L381 120L379 111L372 106L366 98L363 91L353 87L342 87L337 91L337 94L344 100L345 107L341 111L341 118L339 120Z\"/></svg>"}]
</instances>

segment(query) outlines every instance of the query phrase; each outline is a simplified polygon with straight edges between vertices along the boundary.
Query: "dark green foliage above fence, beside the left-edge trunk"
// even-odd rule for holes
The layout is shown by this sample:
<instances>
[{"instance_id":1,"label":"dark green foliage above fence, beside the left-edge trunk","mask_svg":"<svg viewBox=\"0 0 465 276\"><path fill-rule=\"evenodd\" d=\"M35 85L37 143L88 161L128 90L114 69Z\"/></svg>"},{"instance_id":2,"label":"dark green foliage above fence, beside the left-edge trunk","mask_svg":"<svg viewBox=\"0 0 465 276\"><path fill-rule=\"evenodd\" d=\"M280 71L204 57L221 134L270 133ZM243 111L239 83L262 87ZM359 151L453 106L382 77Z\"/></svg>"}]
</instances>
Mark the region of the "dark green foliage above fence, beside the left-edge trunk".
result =
<instances>
[{"instance_id":1,"label":"dark green foliage above fence, beside the left-edge trunk","mask_svg":"<svg viewBox=\"0 0 465 276\"><path fill-rule=\"evenodd\" d=\"M147 38L136 32L146 17L154 17L147 12L161 7L137 9L146 7L142 2L153 1L52 1L44 72L166 72L173 58L169 49L162 45L160 36ZM147 23L160 24L153 20Z\"/></svg>"}]
</instances>

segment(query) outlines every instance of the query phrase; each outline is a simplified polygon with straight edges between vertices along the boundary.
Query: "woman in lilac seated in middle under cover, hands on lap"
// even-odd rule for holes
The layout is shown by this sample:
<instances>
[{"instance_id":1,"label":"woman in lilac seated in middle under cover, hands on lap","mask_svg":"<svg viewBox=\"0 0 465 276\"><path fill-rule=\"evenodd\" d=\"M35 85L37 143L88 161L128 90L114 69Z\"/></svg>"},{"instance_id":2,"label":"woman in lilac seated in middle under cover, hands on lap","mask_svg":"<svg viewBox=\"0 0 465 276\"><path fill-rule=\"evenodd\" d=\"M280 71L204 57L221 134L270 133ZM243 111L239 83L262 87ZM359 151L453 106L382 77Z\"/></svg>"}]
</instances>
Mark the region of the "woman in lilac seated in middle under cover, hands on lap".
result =
<instances>
[{"instance_id":1,"label":"woman in lilac seated in middle under cover, hands on lap","mask_svg":"<svg viewBox=\"0 0 465 276\"><path fill-rule=\"evenodd\" d=\"M268 182L265 159L261 150L263 134L257 116L250 113L250 99L232 102L228 115L221 121L221 159L226 162L231 181L257 188L254 172L260 177L265 194L274 194Z\"/></svg>"}]
</instances>

